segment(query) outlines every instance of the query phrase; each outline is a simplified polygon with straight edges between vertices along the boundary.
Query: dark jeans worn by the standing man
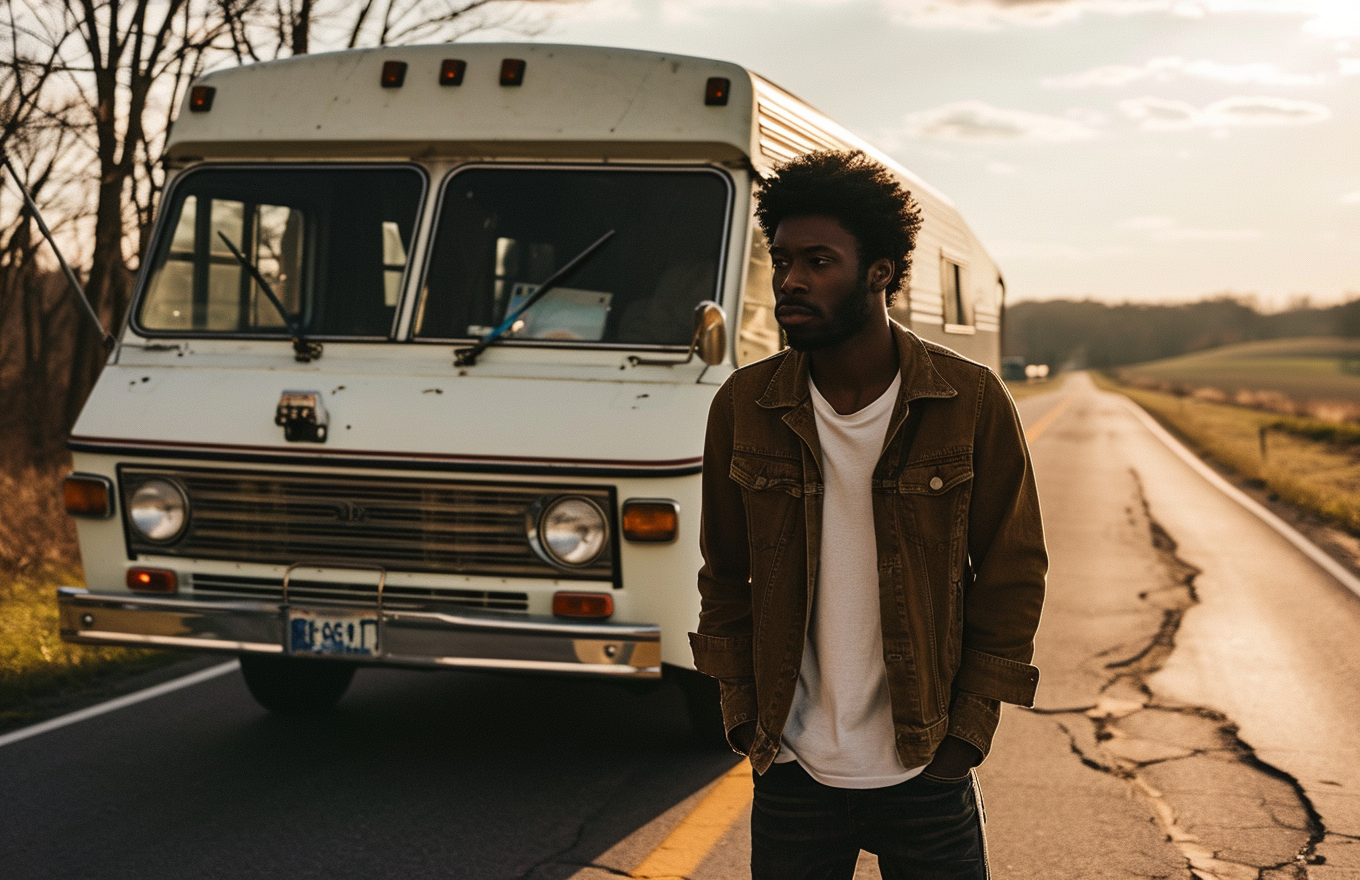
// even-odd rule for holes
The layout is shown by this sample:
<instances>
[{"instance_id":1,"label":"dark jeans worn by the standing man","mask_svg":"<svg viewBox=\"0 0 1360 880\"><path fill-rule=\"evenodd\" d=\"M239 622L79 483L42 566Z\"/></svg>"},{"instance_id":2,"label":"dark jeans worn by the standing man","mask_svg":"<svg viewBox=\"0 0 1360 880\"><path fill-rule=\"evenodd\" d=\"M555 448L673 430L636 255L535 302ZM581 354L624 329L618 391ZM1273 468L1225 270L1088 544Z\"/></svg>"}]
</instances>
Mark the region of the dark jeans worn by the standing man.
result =
<instances>
[{"instance_id":1,"label":"dark jeans worn by the standing man","mask_svg":"<svg viewBox=\"0 0 1360 880\"><path fill-rule=\"evenodd\" d=\"M834 789L798 762L755 778L753 880L850 880L860 850L884 880L987 880L976 775L917 775L885 789Z\"/></svg>"}]
</instances>

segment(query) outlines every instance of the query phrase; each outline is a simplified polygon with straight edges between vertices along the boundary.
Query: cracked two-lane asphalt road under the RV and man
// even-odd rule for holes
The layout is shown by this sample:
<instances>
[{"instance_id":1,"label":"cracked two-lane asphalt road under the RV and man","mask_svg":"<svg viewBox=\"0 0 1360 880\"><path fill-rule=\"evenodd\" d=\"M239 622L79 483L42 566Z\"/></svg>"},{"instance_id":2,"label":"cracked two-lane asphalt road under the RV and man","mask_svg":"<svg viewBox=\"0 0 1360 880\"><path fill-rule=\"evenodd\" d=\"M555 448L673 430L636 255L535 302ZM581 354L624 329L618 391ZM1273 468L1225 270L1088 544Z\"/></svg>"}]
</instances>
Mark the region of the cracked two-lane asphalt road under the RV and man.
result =
<instances>
[{"instance_id":1,"label":"cracked two-lane asphalt road under the RV and man","mask_svg":"<svg viewBox=\"0 0 1360 880\"><path fill-rule=\"evenodd\" d=\"M1085 377L1020 409L1053 574L994 876L1360 877L1360 598ZM280 720L233 673L0 747L0 875L630 876L733 764L670 690L362 671ZM744 876L732 815L688 876Z\"/></svg>"}]
</instances>

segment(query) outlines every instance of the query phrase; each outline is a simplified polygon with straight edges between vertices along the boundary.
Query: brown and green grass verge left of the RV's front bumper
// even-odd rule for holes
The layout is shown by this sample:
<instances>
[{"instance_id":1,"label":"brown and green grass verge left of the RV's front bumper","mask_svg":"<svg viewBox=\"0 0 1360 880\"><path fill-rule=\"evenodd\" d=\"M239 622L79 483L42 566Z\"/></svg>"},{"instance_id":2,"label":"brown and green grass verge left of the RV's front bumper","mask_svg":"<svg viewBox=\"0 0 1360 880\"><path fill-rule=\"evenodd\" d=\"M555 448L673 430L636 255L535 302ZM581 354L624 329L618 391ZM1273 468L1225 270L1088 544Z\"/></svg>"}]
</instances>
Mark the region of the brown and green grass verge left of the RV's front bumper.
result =
<instances>
[{"instance_id":1,"label":"brown and green grass verge left of the RV's front bumper","mask_svg":"<svg viewBox=\"0 0 1360 880\"><path fill-rule=\"evenodd\" d=\"M31 718L37 700L166 662L160 651L61 641L56 588L80 585L75 528L61 505L65 468L0 471L0 726Z\"/></svg>"}]
</instances>

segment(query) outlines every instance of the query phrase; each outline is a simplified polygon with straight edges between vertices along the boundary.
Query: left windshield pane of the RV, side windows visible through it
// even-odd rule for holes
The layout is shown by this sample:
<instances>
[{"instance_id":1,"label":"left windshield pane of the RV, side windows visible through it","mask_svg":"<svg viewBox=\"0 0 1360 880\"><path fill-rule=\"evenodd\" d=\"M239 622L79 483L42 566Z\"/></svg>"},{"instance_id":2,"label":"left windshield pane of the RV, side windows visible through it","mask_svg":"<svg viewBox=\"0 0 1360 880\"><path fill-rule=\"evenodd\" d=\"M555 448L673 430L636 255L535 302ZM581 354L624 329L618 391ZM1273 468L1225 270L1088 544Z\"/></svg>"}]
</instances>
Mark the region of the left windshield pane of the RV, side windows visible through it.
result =
<instances>
[{"instance_id":1,"label":"left windshield pane of the RV, side windows visible through it","mask_svg":"<svg viewBox=\"0 0 1360 880\"><path fill-rule=\"evenodd\" d=\"M287 335L235 246L303 333L386 339L423 188L409 167L192 171L165 208L137 324L162 333Z\"/></svg>"}]
</instances>

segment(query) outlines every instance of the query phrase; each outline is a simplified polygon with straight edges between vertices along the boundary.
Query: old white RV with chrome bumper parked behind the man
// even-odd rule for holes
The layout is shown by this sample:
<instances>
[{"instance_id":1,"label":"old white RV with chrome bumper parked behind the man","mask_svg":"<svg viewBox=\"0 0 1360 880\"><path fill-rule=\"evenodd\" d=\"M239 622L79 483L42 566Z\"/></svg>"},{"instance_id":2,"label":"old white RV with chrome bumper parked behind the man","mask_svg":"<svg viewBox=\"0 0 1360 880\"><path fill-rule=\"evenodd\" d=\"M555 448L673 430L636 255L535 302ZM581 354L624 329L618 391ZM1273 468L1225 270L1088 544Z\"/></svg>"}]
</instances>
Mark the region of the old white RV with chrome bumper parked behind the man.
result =
<instances>
[{"instance_id":1,"label":"old white RV with chrome bumper parked behind the man","mask_svg":"<svg viewBox=\"0 0 1360 880\"><path fill-rule=\"evenodd\" d=\"M71 437L64 638L239 654L277 711L363 664L665 669L713 724L706 413L781 345L756 175L827 147L921 203L895 317L997 367L1001 276L953 205L737 65L466 44L203 76Z\"/></svg>"}]
</instances>

